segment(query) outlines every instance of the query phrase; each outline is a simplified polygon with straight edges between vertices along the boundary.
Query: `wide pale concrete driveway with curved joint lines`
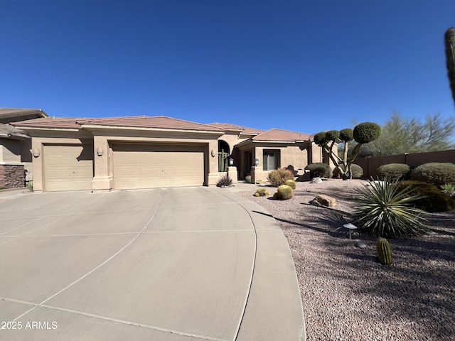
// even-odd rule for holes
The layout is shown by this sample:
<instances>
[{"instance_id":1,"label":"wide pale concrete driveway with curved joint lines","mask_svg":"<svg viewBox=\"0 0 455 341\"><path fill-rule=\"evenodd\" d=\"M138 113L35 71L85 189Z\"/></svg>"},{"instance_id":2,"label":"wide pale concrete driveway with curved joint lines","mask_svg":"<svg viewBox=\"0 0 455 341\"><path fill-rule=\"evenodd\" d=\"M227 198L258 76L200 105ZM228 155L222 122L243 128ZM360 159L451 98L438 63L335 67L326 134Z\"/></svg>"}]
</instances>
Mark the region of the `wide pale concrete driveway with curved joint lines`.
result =
<instances>
[{"instance_id":1,"label":"wide pale concrete driveway with curved joint lines","mask_svg":"<svg viewBox=\"0 0 455 341\"><path fill-rule=\"evenodd\" d=\"M12 196L0 274L0 340L305 339L279 225L221 188Z\"/></svg>"}]
</instances>

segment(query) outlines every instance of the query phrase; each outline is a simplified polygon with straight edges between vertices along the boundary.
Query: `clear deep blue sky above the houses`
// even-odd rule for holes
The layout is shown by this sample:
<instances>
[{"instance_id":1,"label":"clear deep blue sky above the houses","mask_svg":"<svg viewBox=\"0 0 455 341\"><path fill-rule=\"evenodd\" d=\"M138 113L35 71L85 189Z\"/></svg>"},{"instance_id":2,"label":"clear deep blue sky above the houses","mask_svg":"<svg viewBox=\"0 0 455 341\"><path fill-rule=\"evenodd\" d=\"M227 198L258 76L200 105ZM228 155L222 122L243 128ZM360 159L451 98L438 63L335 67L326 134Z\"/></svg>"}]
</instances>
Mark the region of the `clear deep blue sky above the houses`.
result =
<instances>
[{"instance_id":1,"label":"clear deep blue sky above the houses","mask_svg":"<svg viewBox=\"0 0 455 341\"><path fill-rule=\"evenodd\" d=\"M308 134L455 115L452 0L0 0L0 107Z\"/></svg>"}]
</instances>

